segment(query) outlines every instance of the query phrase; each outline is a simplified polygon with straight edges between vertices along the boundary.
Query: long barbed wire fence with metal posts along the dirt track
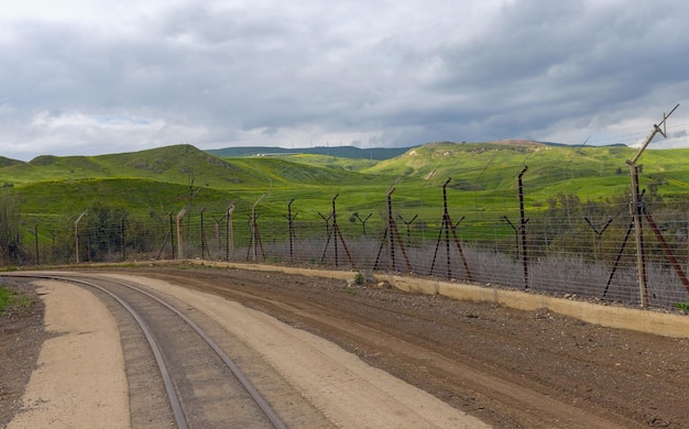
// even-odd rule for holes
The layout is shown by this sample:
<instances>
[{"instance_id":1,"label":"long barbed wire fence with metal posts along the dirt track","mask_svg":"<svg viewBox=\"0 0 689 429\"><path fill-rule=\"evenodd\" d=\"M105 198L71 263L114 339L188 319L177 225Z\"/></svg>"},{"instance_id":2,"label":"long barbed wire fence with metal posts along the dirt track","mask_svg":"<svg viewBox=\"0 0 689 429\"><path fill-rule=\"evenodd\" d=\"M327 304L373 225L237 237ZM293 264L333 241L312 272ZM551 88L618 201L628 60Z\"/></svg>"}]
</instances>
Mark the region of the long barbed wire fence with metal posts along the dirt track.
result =
<instances>
[{"instance_id":1,"label":"long barbed wire fence with metal posts along the dirt track","mask_svg":"<svg viewBox=\"0 0 689 429\"><path fill-rule=\"evenodd\" d=\"M526 177L524 168L520 179ZM305 209L293 211L296 197L285 201L284 213L262 213L261 197L250 212L231 205L154 217L101 207L68 221L32 218L24 229L35 242L24 243L22 261L259 262L401 273L656 308L687 301L689 205L641 194L645 228L638 252L633 240L637 211L622 198L582 202L556 195L526 218L527 190L521 180L508 216L448 204L450 180L433 189L442 193L438 206L437 198L424 201L408 195L396 202L391 187L369 207L347 205L337 194L331 212L317 213L320 219L314 213L299 219ZM364 221L359 213L371 215ZM400 229L395 219L409 221Z\"/></svg>"}]
</instances>

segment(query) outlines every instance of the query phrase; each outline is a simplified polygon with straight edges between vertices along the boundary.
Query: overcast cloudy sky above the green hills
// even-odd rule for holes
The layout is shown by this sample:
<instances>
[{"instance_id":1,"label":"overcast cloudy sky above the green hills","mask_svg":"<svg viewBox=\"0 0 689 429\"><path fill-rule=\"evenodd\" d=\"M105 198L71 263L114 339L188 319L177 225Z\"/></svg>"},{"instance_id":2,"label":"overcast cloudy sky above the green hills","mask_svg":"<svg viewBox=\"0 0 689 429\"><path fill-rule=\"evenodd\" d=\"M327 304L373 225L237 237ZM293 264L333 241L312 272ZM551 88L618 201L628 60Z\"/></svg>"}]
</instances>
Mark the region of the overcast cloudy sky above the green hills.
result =
<instances>
[{"instance_id":1,"label":"overcast cloudy sky above the green hills","mask_svg":"<svg viewBox=\"0 0 689 429\"><path fill-rule=\"evenodd\" d=\"M689 2L0 0L0 156L173 144L635 144L675 106Z\"/></svg>"}]
</instances>

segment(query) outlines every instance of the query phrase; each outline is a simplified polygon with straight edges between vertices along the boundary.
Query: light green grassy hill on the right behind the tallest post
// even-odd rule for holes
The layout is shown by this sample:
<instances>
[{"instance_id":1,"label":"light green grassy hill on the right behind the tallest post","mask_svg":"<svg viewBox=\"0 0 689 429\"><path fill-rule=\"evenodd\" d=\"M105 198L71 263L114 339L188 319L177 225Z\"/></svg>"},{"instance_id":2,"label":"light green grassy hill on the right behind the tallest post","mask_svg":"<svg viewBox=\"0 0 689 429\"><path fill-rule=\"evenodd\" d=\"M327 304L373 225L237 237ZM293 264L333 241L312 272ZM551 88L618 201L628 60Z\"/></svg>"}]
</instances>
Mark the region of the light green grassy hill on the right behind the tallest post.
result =
<instances>
[{"instance_id":1,"label":"light green grassy hill on the right behind the tallest post","mask_svg":"<svg viewBox=\"0 0 689 429\"><path fill-rule=\"evenodd\" d=\"M451 177L450 187L473 193L511 191L520 173L529 194L543 196L579 195L583 199L610 197L630 186L625 163L636 150L626 146L576 147L536 142L430 143L409 150L395 158L362 169L368 174L415 177L441 185ZM689 183L689 150L643 153L642 184L660 185L663 194L682 193Z\"/></svg>"}]
</instances>

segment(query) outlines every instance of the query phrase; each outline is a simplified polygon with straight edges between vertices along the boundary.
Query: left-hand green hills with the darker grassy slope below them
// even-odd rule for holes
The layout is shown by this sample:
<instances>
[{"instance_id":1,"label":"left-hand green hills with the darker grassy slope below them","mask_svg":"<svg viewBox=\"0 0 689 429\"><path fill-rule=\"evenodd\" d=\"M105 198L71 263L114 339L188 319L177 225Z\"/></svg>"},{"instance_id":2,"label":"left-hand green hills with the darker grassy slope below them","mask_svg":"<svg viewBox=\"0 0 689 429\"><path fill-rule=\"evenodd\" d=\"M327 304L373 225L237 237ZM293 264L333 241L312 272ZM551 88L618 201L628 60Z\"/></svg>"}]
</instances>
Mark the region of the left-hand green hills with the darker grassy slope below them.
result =
<instances>
[{"instance_id":1,"label":"left-hand green hills with the darker grassy slope below them","mask_svg":"<svg viewBox=\"0 0 689 429\"><path fill-rule=\"evenodd\" d=\"M135 212L176 212L190 199L199 209L222 210L230 202L245 209L262 194L272 197L267 207L298 196L326 210L330 189L362 190L380 186L379 179L283 158L223 160L190 145L101 156L40 156L0 167L0 183L19 197L22 212L32 216L78 213L96 202Z\"/></svg>"}]
</instances>

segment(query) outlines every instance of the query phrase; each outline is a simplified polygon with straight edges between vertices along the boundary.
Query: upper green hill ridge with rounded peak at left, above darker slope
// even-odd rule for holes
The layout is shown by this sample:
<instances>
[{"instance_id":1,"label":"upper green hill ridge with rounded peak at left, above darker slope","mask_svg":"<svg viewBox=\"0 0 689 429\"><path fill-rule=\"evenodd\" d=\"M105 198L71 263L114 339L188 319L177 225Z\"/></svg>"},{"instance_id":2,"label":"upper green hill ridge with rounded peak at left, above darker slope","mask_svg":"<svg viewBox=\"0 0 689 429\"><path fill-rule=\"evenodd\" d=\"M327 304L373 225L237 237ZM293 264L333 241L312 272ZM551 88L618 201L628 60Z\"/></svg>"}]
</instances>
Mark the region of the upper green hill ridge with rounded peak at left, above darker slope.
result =
<instances>
[{"instance_id":1,"label":"upper green hill ridge with rounded peak at left, above darker slope","mask_svg":"<svg viewBox=\"0 0 689 429\"><path fill-rule=\"evenodd\" d=\"M39 156L0 167L0 180L14 186L55 180L149 179L217 188L253 188L272 184L324 185L357 180L340 169L278 158L222 160L190 145L100 156ZM360 178L364 179L364 178Z\"/></svg>"}]
</instances>

